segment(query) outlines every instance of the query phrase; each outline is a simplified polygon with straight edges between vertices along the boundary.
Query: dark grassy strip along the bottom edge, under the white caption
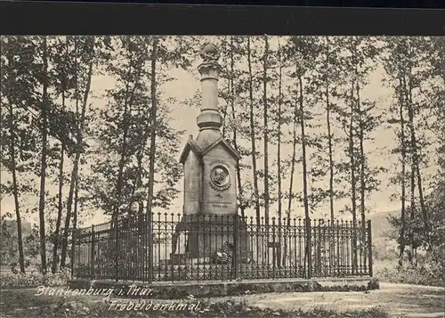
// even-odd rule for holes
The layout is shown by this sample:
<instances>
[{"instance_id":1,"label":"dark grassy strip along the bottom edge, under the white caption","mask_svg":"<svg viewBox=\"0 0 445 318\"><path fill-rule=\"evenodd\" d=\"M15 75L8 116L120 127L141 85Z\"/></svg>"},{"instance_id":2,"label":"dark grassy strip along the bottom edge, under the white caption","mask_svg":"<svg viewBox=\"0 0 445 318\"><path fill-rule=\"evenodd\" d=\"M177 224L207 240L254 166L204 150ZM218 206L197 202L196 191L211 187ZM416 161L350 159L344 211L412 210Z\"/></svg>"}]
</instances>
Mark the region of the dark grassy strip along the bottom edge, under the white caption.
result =
<instances>
[{"instance_id":1,"label":"dark grassy strip along the bottom edge, under the white caption","mask_svg":"<svg viewBox=\"0 0 445 318\"><path fill-rule=\"evenodd\" d=\"M62 298L55 296L36 296L36 289L4 289L1 294L0 317L386 317L384 311L376 307L365 309L323 309L311 308L279 308L277 306L255 306L257 298L210 298L206 300L183 299L146 300L158 306L185 304L185 310L119 310L110 307L113 300L118 304L124 299L110 298L104 300L97 296L77 296ZM277 298L278 294L270 294ZM281 294L280 294L281 295ZM286 295L286 294L284 294ZM281 297L281 296L280 296ZM287 296L288 297L288 296ZM127 299L125 299L126 301ZM135 300L137 302L137 300ZM128 303L126 303L128 304ZM193 308L190 308L190 305Z\"/></svg>"}]
</instances>

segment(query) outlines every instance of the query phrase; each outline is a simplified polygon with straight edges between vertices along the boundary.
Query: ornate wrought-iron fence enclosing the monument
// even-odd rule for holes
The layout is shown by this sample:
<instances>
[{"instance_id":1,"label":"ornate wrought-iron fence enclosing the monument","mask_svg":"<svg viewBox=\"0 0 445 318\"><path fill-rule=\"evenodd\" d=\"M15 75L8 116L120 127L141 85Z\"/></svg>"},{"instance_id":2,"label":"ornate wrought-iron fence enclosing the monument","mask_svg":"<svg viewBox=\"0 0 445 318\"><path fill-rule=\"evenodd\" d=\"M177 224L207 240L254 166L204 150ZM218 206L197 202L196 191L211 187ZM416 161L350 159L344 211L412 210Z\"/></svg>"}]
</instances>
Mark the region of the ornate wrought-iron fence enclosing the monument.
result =
<instances>
[{"instance_id":1,"label":"ornate wrought-iron fence enclosing the monument","mask_svg":"<svg viewBox=\"0 0 445 318\"><path fill-rule=\"evenodd\" d=\"M136 216L77 229L71 266L76 278L149 283L372 276L371 223Z\"/></svg>"}]
</instances>

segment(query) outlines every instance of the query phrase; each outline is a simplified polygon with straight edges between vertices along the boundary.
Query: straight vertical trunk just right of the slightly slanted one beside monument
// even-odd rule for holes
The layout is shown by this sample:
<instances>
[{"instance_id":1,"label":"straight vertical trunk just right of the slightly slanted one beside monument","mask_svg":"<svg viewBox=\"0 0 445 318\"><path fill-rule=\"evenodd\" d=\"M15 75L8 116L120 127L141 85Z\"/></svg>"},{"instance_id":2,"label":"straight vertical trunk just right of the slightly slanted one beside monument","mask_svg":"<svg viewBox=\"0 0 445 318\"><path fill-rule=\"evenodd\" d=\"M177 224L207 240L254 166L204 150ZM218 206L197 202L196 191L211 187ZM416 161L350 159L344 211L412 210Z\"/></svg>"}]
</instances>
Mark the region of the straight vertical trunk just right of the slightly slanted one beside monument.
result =
<instances>
[{"instance_id":1,"label":"straight vertical trunk just right of the slightly slanted one beside monument","mask_svg":"<svg viewBox=\"0 0 445 318\"><path fill-rule=\"evenodd\" d=\"M269 57L269 41L264 36L264 56L263 56L263 122L264 122L264 221L266 231L269 231L269 135L267 126L267 59Z\"/></svg>"}]
</instances>

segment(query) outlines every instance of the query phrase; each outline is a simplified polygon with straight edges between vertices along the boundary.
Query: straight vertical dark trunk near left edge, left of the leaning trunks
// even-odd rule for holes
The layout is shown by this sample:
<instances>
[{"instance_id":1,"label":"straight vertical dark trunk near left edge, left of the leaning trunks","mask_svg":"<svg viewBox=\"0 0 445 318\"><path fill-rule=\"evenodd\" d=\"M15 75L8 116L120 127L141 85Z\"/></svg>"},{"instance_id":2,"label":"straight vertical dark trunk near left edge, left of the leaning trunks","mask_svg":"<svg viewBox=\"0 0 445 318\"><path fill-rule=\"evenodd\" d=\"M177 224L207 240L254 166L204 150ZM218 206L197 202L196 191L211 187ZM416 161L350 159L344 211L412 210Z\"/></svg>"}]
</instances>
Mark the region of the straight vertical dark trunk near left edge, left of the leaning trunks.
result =
<instances>
[{"instance_id":1,"label":"straight vertical dark trunk near left edge, left of the leaning trunks","mask_svg":"<svg viewBox=\"0 0 445 318\"><path fill-rule=\"evenodd\" d=\"M48 47L47 39L44 36L43 43L43 60L44 60L44 83L42 94L42 157L40 168L40 195L38 203L39 216L39 236L40 236L40 258L41 271L46 274L46 238L44 233L44 192L46 182L46 152L48 147Z\"/></svg>"}]
</instances>

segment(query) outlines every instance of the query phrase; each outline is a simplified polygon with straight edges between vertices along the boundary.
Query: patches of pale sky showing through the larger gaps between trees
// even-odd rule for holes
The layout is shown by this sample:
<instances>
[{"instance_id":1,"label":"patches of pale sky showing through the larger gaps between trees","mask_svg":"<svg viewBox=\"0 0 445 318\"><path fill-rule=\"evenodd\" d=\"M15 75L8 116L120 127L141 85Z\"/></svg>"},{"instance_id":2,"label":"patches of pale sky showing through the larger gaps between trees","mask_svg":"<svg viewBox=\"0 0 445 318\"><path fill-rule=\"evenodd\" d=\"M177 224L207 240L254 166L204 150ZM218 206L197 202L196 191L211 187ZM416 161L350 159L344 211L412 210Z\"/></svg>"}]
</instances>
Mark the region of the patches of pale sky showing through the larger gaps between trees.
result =
<instances>
[{"instance_id":1,"label":"patches of pale sky showing through the larger gaps between trees","mask_svg":"<svg viewBox=\"0 0 445 318\"><path fill-rule=\"evenodd\" d=\"M197 60L199 61L199 57L197 56ZM175 77L174 81L167 83L163 86L163 90L166 96L174 97L176 101L178 101L175 105L170 105L171 117L173 121L171 126L173 126L177 130L184 130L184 134L182 135L181 145L185 145L188 136L193 135L196 137L198 135L198 126L196 125L196 118L199 114L199 106L190 107L182 104L183 101L190 99L200 88L200 82L198 80L198 69L189 69L185 70L175 70L172 74ZM377 102L376 106L378 109L387 109L389 104L392 102L392 91L388 87L384 86L384 69L382 66L377 67L368 77L368 86L363 88L361 96L363 99L369 98L370 100L375 100ZM91 98L91 102L94 107L106 107L106 102L103 98L101 98L101 92L103 93L105 89L112 86L112 79L106 76L94 75L92 78L91 90L93 92L93 96ZM221 88L221 87L220 87ZM390 173L380 175L380 179L382 181L379 191L374 192L370 195L367 200L367 207L370 209L370 213L382 212L382 211L392 211L400 208L399 202L393 202L390 200L392 193L397 192L397 188L389 183L389 178L391 177L391 169L397 165L397 158L390 155L388 153L389 149L392 149L396 142L396 136L394 132L389 129L387 126L379 126L376 131L373 133L375 137L374 143L367 143L365 146L365 150L368 154L368 159L372 165L387 167L390 169ZM261 147L261 144L260 144ZM182 147L180 147L181 149ZM270 155L273 157L275 155L274 146L270 146ZM282 145L282 155L285 157L290 154L292 151L291 145ZM178 153L178 160L179 160ZM261 167L261 163L260 163ZM67 164L67 169L69 168L69 164ZM298 167L299 168L299 167ZM297 173L301 173L298 171ZM434 167L425 171L426 174L433 174ZM2 182L8 180L10 175L2 171ZM296 192L301 191L303 187L303 182L301 179L301 175L295 176L296 180L294 183L294 189ZM171 207L171 212L178 213L182 211L182 180L177 184L177 188L181 190L178 197L174 200L173 205ZM288 181L284 181L283 189L287 189ZM57 192L56 184L48 184L48 189L50 192ZM425 189L426 193L428 189ZM65 194L68 194L68 188L64 190ZM36 206L38 203L38 198L36 197L27 197L22 198L22 202L24 206ZM347 203L345 200L336 201L336 209L343 208L344 204ZM285 202L287 204L287 202ZM328 204L328 202L327 202ZM328 205L325 205L322 210L324 212L328 212ZM4 211L13 212L13 200L12 197L4 197L1 201L1 209L2 214ZM276 205L271 206L271 216L273 216L273 211L276 210ZM301 216L303 214L302 208L296 208L293 212L295 216ZM253 211L247 211L247 215L253 215ZM31 216L26 216L28 221L31 223L37 222L36 214ZM91 211L91 216L87 217L85 220L85 225L89 224L97 224L107 220L106 216L103 216L100 210Z\"/></svg>"}]
</instances>

